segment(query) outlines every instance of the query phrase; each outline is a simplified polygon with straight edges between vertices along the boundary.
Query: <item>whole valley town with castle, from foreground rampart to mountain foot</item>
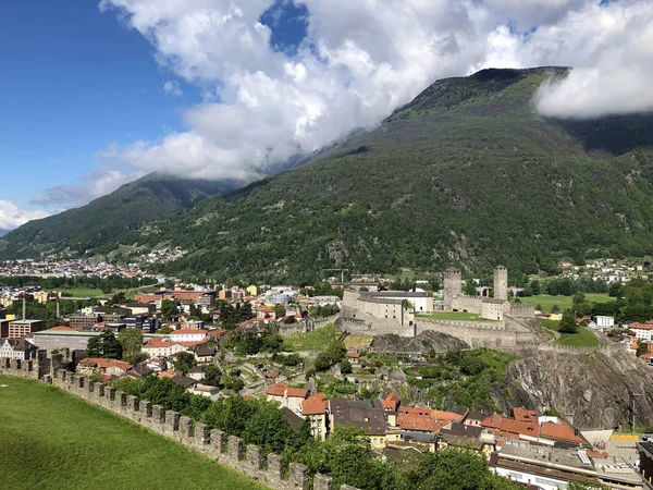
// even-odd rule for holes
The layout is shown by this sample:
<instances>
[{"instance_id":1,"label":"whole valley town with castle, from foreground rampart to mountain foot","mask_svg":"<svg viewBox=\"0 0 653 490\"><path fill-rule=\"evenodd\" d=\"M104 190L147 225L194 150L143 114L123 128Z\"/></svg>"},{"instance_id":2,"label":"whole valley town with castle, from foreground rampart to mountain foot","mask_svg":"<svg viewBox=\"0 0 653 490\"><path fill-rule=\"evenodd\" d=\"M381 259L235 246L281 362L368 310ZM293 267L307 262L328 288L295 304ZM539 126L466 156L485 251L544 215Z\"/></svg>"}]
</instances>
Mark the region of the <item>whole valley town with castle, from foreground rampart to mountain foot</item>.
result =
<instances>
[{"instance_id":1,"label":"whole valley town with castle, from foreground rampart to mountain foot","mask_svg":"<svg viewBox=\"0 0 653 490\"><path fill-rule=\"evenodd\" d=\"M262 400L289 433L326 444L354 430L365 457L390 468L459 448L515 483L643 489L650 392L627 391L621 407L592 406L603 394L589 382L576 401L529 399L510 372L537 353L580 365L604 356L630 366L621 376L650 377L653 266L605 258L560 261L556 272L336 269L313 284L192 284L150 275L146 264L4 261L0 372L29 365L52 382L64 369L141 399L157 387L159 405L220 430L214 411ZM247 442L243 430L230 433Z\"/></svg>"}]
</instances>

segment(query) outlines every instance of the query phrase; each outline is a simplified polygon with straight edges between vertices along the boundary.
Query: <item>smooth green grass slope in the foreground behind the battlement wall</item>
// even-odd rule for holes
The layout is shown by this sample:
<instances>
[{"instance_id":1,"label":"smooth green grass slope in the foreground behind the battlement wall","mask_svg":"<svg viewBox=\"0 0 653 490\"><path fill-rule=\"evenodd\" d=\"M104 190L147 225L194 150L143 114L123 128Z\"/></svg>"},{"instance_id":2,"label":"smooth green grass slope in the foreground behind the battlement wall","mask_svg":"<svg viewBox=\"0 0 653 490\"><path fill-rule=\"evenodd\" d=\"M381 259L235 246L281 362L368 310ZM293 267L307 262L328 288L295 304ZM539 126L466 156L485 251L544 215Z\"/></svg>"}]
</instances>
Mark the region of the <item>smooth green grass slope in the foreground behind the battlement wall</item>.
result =
<instances>
[{"instance_id":1,"label":"smooth green grass slope in the foreground behind the battlement wall","mask_svg":"<svg viewBox=\"0 0 653 490\"><path fill-rule=\"evenodd\" d=\"M33 380L0 376L0 487L264 489L143 427Z\"/></svg>"}]
</instances>

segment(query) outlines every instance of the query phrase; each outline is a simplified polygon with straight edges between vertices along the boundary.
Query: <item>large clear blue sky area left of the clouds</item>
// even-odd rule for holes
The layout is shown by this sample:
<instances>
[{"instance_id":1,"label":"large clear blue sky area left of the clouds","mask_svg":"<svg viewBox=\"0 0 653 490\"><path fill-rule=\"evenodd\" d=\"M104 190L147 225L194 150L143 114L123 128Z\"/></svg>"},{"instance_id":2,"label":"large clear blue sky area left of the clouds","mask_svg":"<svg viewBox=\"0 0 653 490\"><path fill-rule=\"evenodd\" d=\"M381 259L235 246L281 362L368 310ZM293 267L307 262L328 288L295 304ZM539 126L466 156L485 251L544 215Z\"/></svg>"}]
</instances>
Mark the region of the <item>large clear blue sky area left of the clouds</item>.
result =
<instances>
[{"instance_id":1,"label":"large clear blue sky area left of the clouds","mask_svg":"<svg viewBox=\"0 0 653 490\"><path fill-rule=\"evenodd\" d=\"M153 54L94 1L0 2L1 198L28 205L89 171L110 143L183 128L180 111L199 94ZM170 79L181 97L163 90Z\"/></svg>"}]
</instances>

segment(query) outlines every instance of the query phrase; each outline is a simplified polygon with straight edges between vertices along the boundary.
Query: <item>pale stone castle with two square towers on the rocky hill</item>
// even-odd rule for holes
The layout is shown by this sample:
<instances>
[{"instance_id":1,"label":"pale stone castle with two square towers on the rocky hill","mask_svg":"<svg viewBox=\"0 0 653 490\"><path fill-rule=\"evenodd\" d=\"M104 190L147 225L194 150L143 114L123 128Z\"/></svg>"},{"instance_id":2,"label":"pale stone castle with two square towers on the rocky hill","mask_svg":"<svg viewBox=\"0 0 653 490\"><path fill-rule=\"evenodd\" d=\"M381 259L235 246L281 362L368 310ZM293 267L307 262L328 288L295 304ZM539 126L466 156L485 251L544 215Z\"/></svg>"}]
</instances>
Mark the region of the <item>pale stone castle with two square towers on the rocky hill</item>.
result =
<instances>
[{"instance_id":1,"label":"pale stone castle with two square towers on the rocky hill","mask_svg":"<svg viewBox=\"0 0 653 490\"><path fill-rule=\"evenodd\" d=\"M478 320L429 317L433 311L465 311ZM494 268L494 297L463 294L459 269L444 272L443 301L433 302L427 292L357 292L345 291L341 310L341 327L354 334L417 336L436 331L458 338L472 347L515 347L537 343L532 305L508 301L508 270Z\"/></svg>"}]
</instances>

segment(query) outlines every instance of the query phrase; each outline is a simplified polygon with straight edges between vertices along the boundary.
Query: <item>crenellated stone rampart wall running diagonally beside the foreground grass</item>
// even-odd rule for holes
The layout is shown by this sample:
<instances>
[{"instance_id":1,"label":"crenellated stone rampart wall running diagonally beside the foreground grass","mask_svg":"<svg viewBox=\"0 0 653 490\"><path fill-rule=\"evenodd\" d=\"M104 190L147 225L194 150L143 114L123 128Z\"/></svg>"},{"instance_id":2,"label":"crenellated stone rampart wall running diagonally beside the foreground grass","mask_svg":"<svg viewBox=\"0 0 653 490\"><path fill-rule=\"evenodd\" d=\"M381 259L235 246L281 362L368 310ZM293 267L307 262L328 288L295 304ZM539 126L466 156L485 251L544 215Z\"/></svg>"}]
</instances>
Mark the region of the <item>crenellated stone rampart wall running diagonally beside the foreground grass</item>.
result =
<instances>
[{"instance_id":1,"label":"crenellated stone rampart wall running diagonally beside the foreground grass","mask_svg":"<svg viewBox=\"0 0 653 490\"><path fill-rule=\"evenodd\" d=\"M37 367L32 360L10 362L0 358L0 375L39 379ZM53 385L64 391L174 439L274 490L333 490L333 480L330 477L315 475L311 485L306 466L291 463L286 469L282 456L269 454L264 458L259 446L252 444L245 446L239 438L227 436L221 430L209 430L206 425L182 417L176 412L165 411L160 405L152 405L146 400L127 395L99 382L90 382L87 378L64 369L52 372L51 381ZM356 489L342 486L341 490Z\"/></svg>"}]
</instances>

